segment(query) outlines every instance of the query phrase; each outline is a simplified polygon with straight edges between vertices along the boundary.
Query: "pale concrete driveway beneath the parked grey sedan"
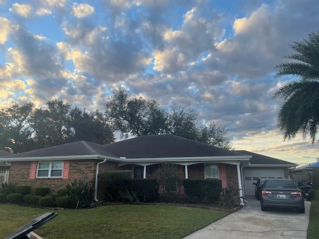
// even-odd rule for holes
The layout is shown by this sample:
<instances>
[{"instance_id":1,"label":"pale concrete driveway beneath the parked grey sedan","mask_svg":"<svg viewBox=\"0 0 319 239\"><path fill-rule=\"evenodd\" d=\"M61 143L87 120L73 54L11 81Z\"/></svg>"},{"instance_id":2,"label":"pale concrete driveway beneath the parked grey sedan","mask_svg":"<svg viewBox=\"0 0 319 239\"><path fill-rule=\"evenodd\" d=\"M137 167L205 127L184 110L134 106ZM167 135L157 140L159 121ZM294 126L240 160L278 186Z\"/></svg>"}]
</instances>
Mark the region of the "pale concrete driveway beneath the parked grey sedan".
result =
<instances>
[{"instance_id":1,"label":"pale concrete driveway beneath the parked grey sedan","mask_svg":"<svg viewBox=\"0 0 319 239\"><path fill-rule=\"evenodd\" d=\"M251 197L246 207L185 239L307 239L311 202L305 201L306 213L274 210L262 212L260 202Z\"/></svg>"}]
</instances>

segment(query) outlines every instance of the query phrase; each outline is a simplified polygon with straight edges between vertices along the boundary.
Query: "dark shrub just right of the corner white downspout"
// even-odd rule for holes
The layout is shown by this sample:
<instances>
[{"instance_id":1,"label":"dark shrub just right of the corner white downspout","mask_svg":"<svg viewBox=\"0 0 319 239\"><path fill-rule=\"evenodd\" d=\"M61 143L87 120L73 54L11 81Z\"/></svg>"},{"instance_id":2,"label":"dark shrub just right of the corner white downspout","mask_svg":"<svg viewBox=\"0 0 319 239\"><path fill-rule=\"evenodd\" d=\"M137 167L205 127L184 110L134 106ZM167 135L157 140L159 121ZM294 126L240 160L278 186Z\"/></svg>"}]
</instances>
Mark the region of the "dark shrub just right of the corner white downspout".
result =
<instances>
[{"instance_id":1,"label":"dark shrub just right of the corner white downspout","mask_svg":"<svg viewBox=\"0 0 319 239\"><path fill-rule=\"evenodd\" d=\"M129 185L131 170L110 171L98 174L99 185L104 189L107 200L119 201L121 192Z\"/></svg>"}]
</instances>

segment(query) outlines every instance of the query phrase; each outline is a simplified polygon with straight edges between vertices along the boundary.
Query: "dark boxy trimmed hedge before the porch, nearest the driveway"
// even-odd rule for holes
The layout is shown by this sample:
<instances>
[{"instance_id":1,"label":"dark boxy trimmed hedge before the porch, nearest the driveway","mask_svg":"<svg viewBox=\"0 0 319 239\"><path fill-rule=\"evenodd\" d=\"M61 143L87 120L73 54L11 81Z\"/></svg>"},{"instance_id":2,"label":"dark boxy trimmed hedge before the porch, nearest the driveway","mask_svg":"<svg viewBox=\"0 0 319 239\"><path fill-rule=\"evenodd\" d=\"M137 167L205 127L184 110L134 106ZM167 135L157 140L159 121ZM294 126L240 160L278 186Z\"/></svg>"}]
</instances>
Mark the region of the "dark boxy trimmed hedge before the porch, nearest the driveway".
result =
<instances>
[{"instance_id":1,"label":"dark boxy trimmed hedge before the porch, nearest the driveway","mask_svg":"<svg viewBox=\"0 0 319 239\"><path fill-rule=\"evenodd\" d=\"M198 201L207 198L211 202L220 199L221 180L217 179L184 179L184 191L188 198L198 197Z\"/></svg>"}]
</instances>

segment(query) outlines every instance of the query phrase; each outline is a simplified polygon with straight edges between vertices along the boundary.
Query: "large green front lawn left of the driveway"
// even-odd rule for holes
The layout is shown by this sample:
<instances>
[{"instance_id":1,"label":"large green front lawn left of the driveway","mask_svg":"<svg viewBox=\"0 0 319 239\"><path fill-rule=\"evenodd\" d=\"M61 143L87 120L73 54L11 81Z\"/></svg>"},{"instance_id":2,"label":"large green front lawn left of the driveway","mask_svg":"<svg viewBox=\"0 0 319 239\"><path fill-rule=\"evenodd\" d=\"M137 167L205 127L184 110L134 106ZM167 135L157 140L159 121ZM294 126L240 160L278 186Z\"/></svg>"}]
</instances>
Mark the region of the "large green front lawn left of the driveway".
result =
<instances>
[{"instance_id":1,"label":"large green front lawn left of the driveway","mask_svg":"<svg viewBox=\"0 0 319 239\"><path fill-rule=\"evenodd\" d=\"M50 210L0 205L0 238ZM166 205L112 205L54 211L58 216L34 232L44 239L181 239L228 215Z\"/></svg>"}]
</instances>

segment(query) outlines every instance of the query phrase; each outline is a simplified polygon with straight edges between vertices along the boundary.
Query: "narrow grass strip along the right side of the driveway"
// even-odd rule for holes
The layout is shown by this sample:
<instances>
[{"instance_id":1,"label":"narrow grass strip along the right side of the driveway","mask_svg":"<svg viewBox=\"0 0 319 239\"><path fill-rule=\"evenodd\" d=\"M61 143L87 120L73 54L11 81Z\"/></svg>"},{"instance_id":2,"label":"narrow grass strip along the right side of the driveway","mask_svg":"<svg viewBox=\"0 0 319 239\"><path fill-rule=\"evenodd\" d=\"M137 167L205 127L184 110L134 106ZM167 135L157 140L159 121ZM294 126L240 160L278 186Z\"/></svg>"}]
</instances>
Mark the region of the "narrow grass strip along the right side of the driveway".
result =
<instances>
[{"instance_id":1,"label":"narrow grass strip along the right side of the driveway","mask_svg":"<svg viewBox=\"0 0 319 239\"><path fill-rule=\"evenodd\" d=\"M319 189L315 190L315 198L311 202L307 239L318 239L319 235Z\"/></svg>"}]
</instances>

